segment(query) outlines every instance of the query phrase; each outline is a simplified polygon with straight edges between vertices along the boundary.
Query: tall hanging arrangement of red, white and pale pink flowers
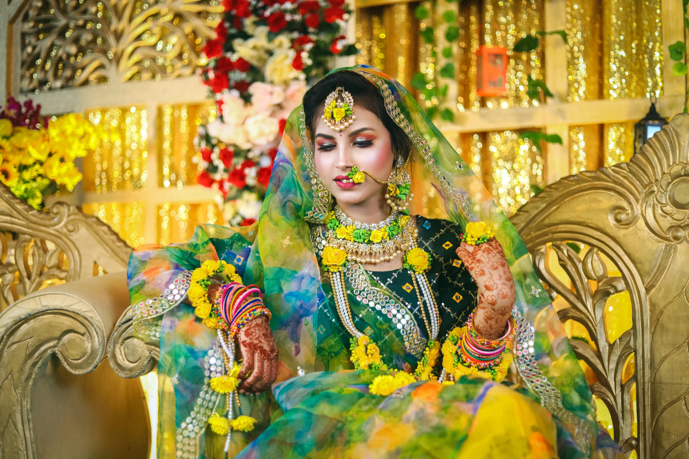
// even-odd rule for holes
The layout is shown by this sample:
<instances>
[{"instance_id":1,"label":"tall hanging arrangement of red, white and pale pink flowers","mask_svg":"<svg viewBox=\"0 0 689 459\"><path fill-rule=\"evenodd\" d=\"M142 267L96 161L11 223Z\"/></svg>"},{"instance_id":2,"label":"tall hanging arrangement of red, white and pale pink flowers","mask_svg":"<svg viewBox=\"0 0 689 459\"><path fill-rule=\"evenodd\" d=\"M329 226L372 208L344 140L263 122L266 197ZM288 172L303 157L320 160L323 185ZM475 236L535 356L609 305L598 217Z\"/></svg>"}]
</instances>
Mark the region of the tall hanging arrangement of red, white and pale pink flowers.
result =
<instances>
[{"instance_id":1,"label":"tall hanging arrangement of red, white and pale pink flowers","mask_svg":"<svg viewBox=\"0 0 689 459\"><path fill-rule=\"evenodd\" d=\"M342 30L344 0L224 0L225 17L205 46L200 72L218 118L200 126L198 183L217 186L230 225L258 218L287 116L306 81L329 70L330 58L356 53Z\"/></svg>"}]
</instances>

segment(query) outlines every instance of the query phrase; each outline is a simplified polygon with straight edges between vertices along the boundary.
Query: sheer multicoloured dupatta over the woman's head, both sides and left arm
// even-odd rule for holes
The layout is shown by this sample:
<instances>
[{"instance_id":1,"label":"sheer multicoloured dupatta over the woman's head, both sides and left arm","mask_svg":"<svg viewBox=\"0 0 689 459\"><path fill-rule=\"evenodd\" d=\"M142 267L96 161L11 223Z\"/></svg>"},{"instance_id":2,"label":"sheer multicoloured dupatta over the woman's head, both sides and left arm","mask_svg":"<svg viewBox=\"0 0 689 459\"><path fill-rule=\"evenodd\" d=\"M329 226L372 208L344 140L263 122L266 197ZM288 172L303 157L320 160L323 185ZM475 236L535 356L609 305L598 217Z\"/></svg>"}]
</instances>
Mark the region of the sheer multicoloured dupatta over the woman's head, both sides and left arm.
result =
<instances>
[{"instance_id":1,"label":"sheer multicoloured dupatta over the woman's head, both sides and left arm","mask_svg":"<svg viewBox=\"0 0 689 459\"><path fill-rule=\"evenodd\" d=\"M431 198L423 206L413 205L411 212L423 214L424 207L436 206L440 217L462 227L472 220L491 226L516 284L517 370L526 388L557 416L577 449L590 456L597 432L591 394L514 226L404 87L369 66L333 72L344 70L358 72L378 87L388 114L415 146L409 166L412 191L415 199ZM193 270L205 259L234 264L245 284L258 284L265 292L280 352L278 381L297 376L298 368L305 372L325 369L318 345L337 331L331 323L319 323L318 306L328 301L325 292L329 286L322 283L309 228L309 222L322 217L325 198L318 175L309 164L313 153L302 145L304 140L309 142L310 133L305 131L301 113L299 107L287 120L257 224L249 228L199 226L187 244L147 246L132 255L128 275L134 330L145 341L159 340L161 348L161 458L175 457L166 455L175 449L183 451L178 457L198 457L199 445L203 445L199 438L203 438L207 418L219 403L204 382L209 350L217 347L214 330L195 320L192 308L176 308L181 300L175 295L183 296L186 285L185 270ZM438 217L438 213L433 216ZM182 288L175 288L180 285ZM260 417L256 434L269 422L267 414L259 414L262 409L267 411L267 398L264 394L252 402L251 414ZM247 440L251 438L233 442L241 448Z\"/></svg>"}]
</instances>

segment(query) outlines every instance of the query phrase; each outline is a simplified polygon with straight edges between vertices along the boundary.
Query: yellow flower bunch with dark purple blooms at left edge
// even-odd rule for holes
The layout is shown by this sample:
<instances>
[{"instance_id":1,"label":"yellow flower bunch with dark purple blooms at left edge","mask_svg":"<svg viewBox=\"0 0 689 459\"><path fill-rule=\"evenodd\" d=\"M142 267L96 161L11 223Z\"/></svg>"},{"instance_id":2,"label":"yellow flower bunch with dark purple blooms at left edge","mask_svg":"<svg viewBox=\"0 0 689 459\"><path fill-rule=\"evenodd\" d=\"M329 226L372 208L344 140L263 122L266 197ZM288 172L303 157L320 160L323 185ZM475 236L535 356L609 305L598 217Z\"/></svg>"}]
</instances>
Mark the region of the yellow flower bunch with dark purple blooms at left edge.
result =
<instances>
[{"instance_id":1,"label":"yellow flower bunch with dark purple blooms at left edge","mask_svg":"<svg viewBox=\"0 0 689 459\"><path fill-rule=\"evenodd\" d=\"M43 120L40 111L31 100L22 106L10 97L0 113L0 181L34 209L46 196L74 189L83 178L74 159L105 136L80 114Z\"/></svg>"}]
</instances>

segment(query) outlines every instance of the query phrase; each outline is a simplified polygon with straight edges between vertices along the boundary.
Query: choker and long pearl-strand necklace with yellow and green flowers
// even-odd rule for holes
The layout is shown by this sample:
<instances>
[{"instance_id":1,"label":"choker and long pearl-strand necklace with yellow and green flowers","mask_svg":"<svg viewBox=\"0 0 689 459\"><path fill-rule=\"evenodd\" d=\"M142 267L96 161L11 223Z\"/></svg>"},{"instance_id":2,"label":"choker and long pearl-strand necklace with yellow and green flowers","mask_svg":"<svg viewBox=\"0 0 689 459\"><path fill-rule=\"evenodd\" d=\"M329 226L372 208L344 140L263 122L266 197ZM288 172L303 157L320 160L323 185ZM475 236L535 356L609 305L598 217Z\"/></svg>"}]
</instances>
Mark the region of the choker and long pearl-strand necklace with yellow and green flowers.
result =
<instances>
[{"instance_id":1,"label":"choker and long pearl-strand necklace with yellow and green flowers","mask_svg":"<svg viewBox=\"0 0 689 459\"><path fill-rule=\"evenodd\" d=\"M418 230L407 212L392 211L387 219L377 224L365 224L352 220L342 209L336 207L326 220L325 241L317 237L316 243L322 244L321 268L329 273L333 297L340 321L353 336L351 339L351 361L357 369L387 370L382 363L378 346L354 325L343 268L349 261L358 263L375 263L389 261L397 255L404 254L404 268L409 269L418 306L421 310L429 342L424 356L419 361L415 375L428 379L433 366L438 361L440 343L438 329L440 314L433 297L431 286L426 278L426 270L431 267L431 257L416 244ZM386 237L387 236L387 237ZM426 316L424 303L429 314ZM401 314L397 314L400 316ZM405 323L395 317L395 325L402 330ZM405 319L406 320L406 319Z\"/></svg>"}]
</instances>

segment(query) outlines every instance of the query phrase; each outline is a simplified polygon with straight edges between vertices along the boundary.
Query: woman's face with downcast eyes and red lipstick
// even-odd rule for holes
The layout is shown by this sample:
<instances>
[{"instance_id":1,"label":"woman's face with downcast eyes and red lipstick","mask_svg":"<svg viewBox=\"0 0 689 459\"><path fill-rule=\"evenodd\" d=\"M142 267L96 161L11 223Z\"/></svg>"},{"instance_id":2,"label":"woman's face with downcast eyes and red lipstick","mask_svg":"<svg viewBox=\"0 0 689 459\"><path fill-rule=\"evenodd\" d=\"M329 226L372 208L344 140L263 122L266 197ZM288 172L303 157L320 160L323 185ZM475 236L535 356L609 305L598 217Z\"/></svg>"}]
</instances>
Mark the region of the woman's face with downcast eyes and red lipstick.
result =
<instances>
[{"instance_id":1,"label":"woman's face with downcast eyes and red lipstick","mask_svg":"<svg viewBox=\"0 0 689 459\"><path fill-rule=\"evenodd\" d=\"M356 166L359 170L369 171L378 180L388 180L395 158L390 133L378 116L358 108L356 120L340 132L327 127L318 116L315 131L313 154L316 170L336 201L339 204L360 204L384 200L387 185L376 182L369 175L362 183L349 182L347 177L347 173Z\"/></svg>"}]
</instances>

